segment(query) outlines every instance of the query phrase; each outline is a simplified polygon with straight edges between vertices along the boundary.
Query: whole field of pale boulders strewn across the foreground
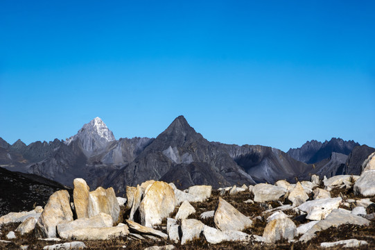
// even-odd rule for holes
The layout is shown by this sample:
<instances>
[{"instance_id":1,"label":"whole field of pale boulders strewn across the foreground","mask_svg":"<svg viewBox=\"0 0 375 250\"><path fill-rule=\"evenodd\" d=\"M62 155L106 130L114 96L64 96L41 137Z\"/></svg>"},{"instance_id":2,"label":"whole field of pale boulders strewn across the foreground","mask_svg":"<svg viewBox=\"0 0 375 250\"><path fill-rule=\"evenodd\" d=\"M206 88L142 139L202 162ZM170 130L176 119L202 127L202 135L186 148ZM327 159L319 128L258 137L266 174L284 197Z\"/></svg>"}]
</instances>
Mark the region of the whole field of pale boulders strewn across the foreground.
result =
<instances>
[{"instance_id":1,"label":"whole field of pale boulders strewn across the foreground","mask_svg":"<svg viewBox=\"0 0 375 250\"><path fill-rule=\"evenodd\" d=\"M0 247L14 246L12 242L26 234L47 242L64 241L43 249L82 249L87 241L116 238L171 243L162 249L182 247L197 239L207 244L243 242L277 247L278 242L284 241L303 246L317 238L320 231L345 224L370 226L375 217L375 153L363 163L360 176L333 176L320 181L313 175L311 181L296 184L277 181L275 185L234 185L214 190L216 196L209 185L182 191L163 181L126 187L126 198L116 197L112 188L90 192L82 178L76 178L73 185L73 202L66 190L60 190L51 195L44 208L37 206L28 212L0 217L1 226L20 223L15 231L0 233ZM353 196L340 193L332 197L337 190L351 190ZM244 215L232 206L231 197L252 198L240 201L245 206L243 211L264 209ZM213 199L213 210L202 209ZM322 242L320 247L361 245L374 247L374 235L369 235L369 242L342 239Z\"/></svg>"}]
</instances>

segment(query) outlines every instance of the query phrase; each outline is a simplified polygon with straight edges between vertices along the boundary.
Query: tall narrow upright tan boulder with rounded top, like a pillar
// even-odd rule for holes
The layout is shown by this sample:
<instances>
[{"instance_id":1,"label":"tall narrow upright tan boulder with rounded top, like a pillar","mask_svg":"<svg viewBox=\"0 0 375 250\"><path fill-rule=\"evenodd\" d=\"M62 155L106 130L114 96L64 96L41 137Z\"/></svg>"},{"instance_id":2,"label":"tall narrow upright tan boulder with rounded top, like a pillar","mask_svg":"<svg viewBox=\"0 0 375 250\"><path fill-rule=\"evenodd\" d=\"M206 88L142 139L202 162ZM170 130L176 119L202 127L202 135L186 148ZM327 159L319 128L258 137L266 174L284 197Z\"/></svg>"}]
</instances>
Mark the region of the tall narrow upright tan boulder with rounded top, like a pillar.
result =
<instances>
[{"instance_id":1,"label":"tall narrow upright tan boulder with rounded top, like a pillar","mask_svg":"<svg viewBox=\"0 0 375 250\"><path fill-rule=\"evenodd\" d=\"M90 188L82 178L75 178L73 181L73 201L77 218L89 217L89 191Z\"/></svg>"}]
</instances>

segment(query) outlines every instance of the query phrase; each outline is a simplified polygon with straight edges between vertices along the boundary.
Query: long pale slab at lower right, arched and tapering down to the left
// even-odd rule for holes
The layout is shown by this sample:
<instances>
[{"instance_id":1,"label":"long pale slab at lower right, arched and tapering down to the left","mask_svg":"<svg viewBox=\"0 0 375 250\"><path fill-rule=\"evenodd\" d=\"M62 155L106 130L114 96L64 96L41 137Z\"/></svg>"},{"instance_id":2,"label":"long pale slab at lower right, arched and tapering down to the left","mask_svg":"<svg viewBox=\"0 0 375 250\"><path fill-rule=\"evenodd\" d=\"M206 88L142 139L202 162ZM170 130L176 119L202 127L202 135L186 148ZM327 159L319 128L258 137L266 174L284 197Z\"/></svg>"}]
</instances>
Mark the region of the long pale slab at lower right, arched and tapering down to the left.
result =
<instances>
[{"instance_id":1,"label":"long pale slab at lower right, arched and tapering down to the left","mask_svg":"<svg viewBox=\"0 0 375 250\"><path fill-rule=\"evenodd\" d=\"M322 219L320 222L315 224L310 230L299 238L299 241L308 242L315 237L315 233L318 231L326 230L331 226L338 227L342 224L354 224L359 226L368 226L369 220L358 215L352 215L345 210L335 209L329 214L326 219Z\"/></svg>"}]
</instances>

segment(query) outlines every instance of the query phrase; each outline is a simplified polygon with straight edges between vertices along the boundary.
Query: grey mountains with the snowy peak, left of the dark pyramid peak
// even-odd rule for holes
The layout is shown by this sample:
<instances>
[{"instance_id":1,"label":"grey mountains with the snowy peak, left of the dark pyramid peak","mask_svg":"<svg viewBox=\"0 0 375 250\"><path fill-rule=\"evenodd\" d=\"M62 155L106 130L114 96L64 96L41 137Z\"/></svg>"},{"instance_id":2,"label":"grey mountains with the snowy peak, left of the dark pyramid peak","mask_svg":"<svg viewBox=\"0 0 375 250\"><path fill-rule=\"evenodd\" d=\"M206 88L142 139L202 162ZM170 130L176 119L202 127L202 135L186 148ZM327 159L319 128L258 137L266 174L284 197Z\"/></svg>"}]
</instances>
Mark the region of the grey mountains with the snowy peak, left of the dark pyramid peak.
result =
<instances>
[{"instance_id":1,"label":"grey mountains with the snowy peak, left of the dark pyramid peak","mask_svg":"<svg viewBox=\"0 0 375 250\"><path fill-rule=\"evenodd\" d=\"M55 139L26 146L17 140L8 149L0 147L0 165L69 186L74 178L85 178L90 188L96 188L108 172L132 162L150 142L150 138L114 140L112 131L96 117L66 141Z\"/></svg>"}]
</instances>

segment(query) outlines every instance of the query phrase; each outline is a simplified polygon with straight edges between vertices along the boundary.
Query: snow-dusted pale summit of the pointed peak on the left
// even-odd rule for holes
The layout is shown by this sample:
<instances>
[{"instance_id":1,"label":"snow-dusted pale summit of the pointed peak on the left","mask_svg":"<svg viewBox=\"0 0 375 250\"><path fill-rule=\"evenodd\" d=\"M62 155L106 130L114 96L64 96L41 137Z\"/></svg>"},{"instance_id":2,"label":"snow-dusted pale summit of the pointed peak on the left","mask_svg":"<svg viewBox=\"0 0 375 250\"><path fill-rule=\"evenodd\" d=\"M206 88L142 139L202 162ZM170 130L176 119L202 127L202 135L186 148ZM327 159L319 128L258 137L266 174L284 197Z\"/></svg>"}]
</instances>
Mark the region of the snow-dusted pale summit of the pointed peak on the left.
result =
<instances>
[{"instance_id":1,"label":"snow-dusted pale summit of the pointed peak on the left","mask_svg":"<svg viewBox=\"0 0 375 250\"><path fill-rule=\"evenodd\" d=\"M85 149L91 155L94 151L104 149L109 142L116 139L103 120L96 117L91 122L83 125L76 135L65 141L65 144L69 145L75 140L79 140L82 149Z\"/></svg>"}]
</instances>

